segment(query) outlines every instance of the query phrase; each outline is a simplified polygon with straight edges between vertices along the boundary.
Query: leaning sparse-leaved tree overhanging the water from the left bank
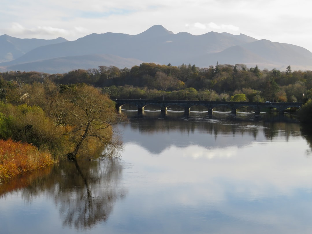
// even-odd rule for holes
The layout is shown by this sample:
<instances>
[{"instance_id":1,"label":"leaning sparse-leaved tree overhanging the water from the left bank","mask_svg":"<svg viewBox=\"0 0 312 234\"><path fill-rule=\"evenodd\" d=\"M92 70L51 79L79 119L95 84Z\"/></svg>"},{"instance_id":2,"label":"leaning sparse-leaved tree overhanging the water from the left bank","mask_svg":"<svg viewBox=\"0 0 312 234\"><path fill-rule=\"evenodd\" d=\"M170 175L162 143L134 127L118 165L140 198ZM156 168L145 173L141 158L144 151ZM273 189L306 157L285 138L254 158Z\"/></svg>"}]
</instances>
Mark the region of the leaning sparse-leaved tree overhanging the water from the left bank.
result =
<instances>
[{"instance_id":1,"label":"leaning sparse-leaved tree overhanging the water from the left bank","mask_svg":"<svg viewBox=\"0 0 312 234\"><path fill-rule=\"evenodd\" d=\"M110 147L120 147L119 139L113 136L113 125L123 121L125 117L117 114L115 103L107 95L88 85L79 85L64 95L68 98L71 109L64 121L74 126L70 135L75 144L73 151L67 154L68 160L75 160L85 143L92 142L97 147L108 144Z\"/></svg>"}]
</instances>

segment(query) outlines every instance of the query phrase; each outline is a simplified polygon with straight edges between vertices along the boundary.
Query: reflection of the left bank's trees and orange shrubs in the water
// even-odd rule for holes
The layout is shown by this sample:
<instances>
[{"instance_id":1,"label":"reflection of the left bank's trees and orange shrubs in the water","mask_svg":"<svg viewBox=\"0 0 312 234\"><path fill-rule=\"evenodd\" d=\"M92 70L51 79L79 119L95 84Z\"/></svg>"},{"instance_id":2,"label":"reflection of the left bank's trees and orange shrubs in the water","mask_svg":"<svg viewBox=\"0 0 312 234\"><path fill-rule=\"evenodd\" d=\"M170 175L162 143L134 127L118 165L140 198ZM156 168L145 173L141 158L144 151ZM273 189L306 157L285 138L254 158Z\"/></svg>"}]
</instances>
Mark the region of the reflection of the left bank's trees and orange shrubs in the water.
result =
<instances>
[{"instance_id":1,"label":"reflection of the left bank's trees and orange shrubs in the water","mask_svg":"<svg viewBox=\"0 0 312 234\"><path fill-rule=\"evenodd\" d=\"M63 226L90 229L105 222L115 202L126 196L126 189L118 185L122 170L119 159L62 161L38 177L24 176L27 178L24 188L12 186L17 183L20 187L21 179L3 184L0 194L3 198L20 193L30 203L41 196L50 197L59 210Z\"/></svg>"}]
</instances>

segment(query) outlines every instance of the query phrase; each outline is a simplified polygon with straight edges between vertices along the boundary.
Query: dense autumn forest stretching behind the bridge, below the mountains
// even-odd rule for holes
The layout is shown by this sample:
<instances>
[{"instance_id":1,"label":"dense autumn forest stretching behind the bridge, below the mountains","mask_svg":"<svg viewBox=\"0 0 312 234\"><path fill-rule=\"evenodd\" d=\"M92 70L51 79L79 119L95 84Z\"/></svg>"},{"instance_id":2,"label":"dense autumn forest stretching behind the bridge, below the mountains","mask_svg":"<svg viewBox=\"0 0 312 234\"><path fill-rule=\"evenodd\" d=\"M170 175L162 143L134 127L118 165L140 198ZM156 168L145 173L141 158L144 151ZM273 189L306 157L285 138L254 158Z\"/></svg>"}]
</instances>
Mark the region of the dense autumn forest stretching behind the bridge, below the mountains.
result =
<instances>
[{"instance_id":1,"label":"dense autumn forest stretching behind the bridge, below the mountains","mask_svg":"<svg viewBox=\"0 0 312 234\"><path fill-rule=\"evenodd\" d=\"M217 63L199 68L191 64L142 63L131 69L100 66L52 75L35 71L2 73L2 80L20 88L45 79L63 85L86 83L101 88L111 98L125 99L303 102L312 94L312 71L292 71L290 66L285 71L261 71L258 66L247 68L244 64Z\"/></svg>"}]
</instances>

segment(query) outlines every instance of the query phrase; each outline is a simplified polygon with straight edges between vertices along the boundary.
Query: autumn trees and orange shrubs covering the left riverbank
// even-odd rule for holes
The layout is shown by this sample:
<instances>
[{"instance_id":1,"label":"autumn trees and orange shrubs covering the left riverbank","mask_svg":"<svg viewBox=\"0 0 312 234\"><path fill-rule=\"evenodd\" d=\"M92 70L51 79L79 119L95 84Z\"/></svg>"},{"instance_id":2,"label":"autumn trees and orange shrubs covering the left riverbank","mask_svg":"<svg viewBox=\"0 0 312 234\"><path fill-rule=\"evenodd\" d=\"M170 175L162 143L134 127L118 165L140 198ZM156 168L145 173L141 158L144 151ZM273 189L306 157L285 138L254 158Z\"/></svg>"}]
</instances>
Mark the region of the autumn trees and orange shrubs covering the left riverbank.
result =
<instances>
[{"instance_id":1,"label":"autumn trees and orange shrubs covering the left riverbank","mask_svg":"<svg viewBox=\"0 0 312 234\"><path fill-rule=\"evenodd\" d=\"M121 147L112 125L124 116L116 113L115 103L98 88L59 85L48 78L27 84L17 77L10 81L1 78L0 93L0 139L5 140L0 142L0 183L52 161L99 156L107 145L111 150L106 156L113 157L114 149ZM26 151L12 153L11 140L19 145L13 147L18 152Z\"/></svg>"}]
</instances>

